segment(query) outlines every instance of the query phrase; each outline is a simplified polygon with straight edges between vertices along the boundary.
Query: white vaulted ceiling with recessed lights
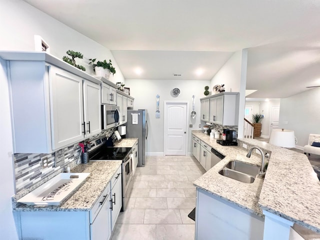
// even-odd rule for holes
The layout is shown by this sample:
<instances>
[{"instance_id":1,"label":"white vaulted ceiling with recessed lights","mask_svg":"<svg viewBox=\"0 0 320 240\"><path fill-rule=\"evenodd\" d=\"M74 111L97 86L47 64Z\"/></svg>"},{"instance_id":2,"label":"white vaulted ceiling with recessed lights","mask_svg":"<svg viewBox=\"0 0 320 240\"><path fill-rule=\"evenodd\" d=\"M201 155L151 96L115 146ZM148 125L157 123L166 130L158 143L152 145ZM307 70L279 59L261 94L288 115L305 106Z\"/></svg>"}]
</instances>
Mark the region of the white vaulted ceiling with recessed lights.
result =
<instances>
[{"instance_id":1,"label":"white vaulted ceiling with recessed lights","mask_svg":"<svg viewBox=\"0 0 320 240\"><path fill-rule=\"evenodd\" d=\"M248 48L250 97L320 85L318 0L25 1L109 48L125 78L209 80Z\"/></svg>"}]
</instances>

